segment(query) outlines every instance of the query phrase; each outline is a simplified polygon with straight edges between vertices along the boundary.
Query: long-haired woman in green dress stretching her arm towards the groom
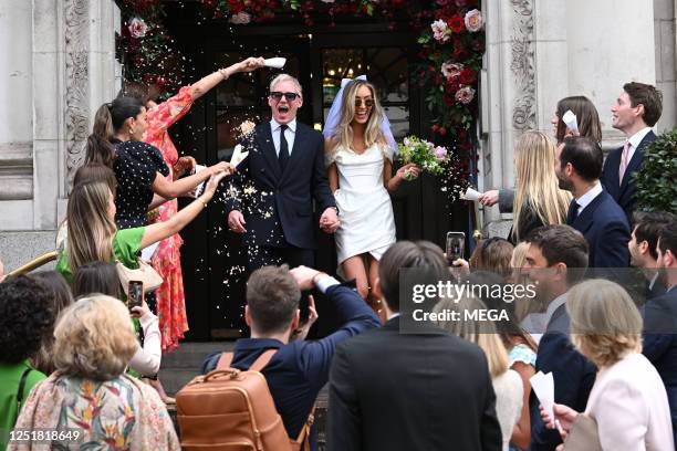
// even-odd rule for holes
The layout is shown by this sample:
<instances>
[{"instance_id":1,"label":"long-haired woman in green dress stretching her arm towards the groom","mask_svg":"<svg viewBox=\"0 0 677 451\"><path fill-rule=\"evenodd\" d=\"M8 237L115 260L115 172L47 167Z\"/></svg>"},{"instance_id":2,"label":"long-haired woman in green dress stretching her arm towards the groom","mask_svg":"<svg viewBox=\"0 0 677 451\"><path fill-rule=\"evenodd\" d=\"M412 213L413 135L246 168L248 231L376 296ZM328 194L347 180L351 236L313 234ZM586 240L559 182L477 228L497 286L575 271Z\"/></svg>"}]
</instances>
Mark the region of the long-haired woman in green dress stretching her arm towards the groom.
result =
<instances>
[{"instance_id":1,"label":"long-haired woman in green dress stretching her arm towards the groom","mask_svg":"<svg viewBox=\"0 0 677 451\"><path fill-rule=\"evenodd\" d=\"M115 227L115 201L106 182L75 185L66 209L67 245L59 258L56 271L71 283L75 270L93 261L119 261L126 268L138 268L140 250L178 233L192 221L207 208L226 175L219 170L211 176L205 192L170 220L125 230Z\"/></svg>"}]
</instances>

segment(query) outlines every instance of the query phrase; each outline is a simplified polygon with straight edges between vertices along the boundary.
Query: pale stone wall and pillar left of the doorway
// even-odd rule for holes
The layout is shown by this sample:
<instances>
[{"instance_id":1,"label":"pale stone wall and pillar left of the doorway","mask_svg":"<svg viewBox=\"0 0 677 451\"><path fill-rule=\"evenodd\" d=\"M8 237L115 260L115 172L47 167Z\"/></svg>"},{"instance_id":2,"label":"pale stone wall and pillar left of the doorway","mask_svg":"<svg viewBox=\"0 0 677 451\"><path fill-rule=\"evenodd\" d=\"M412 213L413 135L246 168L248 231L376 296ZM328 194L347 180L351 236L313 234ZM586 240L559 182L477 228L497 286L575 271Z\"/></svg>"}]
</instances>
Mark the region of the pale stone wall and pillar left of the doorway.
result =
<instances>
[{"instance_id":1,"label":"pale stone wall and pillar left of the doorway","mask_svg":"<svg viewBox=\"0 0 677 451\"><path fill-rule=\"evenodd\" d=\"M0 256L8 269L53 250L94 111L116 93L118 29L113 0L0 2Z\"/></svg>"}]
</instances>

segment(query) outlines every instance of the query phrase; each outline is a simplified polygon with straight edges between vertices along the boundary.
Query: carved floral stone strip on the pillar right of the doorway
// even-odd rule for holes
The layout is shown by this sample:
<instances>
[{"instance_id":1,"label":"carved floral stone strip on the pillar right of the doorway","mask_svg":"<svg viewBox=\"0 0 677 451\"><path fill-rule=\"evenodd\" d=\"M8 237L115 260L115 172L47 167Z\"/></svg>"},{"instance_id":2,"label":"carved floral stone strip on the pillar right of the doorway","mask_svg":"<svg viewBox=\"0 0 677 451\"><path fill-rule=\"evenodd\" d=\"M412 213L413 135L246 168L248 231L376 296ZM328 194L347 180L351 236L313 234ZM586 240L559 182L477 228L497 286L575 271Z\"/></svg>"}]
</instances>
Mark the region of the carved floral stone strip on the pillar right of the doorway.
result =
<instances>
[{"instance_id":1,"label":"carved floral stone strip on the pillar right of the doorway","mask_svg":"<svg viewBox=\"0 0 677 451\"><path fill-rule=\"evenodd\" d=\"M510 69L517 84L512 126L524 132L537 128L535 62L533 48L533 0L512 0L514 34Z\"/></svg>"}]
</instances>

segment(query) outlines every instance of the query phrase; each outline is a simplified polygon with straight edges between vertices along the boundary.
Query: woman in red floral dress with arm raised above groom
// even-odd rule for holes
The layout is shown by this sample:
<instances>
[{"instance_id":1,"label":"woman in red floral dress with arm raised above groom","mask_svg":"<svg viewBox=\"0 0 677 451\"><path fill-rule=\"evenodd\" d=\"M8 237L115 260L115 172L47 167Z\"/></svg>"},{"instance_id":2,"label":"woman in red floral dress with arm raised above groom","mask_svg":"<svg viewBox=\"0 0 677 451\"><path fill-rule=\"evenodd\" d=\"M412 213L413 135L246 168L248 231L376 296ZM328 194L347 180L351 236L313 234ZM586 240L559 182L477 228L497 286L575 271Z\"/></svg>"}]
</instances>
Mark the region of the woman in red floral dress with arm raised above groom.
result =
<instances>
[{"instance_id":1,"label":"woman in red floral dress with arm raised above groom","mask_svg":"<svg viewBox=\"0 0 677 451\"><path fill-rule=\"evenodd\" d=\"M145 86L128 85L125 87L125 95L140 98L146 104L148 113L146 116L147 129L144 141L157 147L170 168L167 178L176 180L185 171L195 168L195 158L180 157L171 143L167 129L184 117L192 106L192 103L205 95L209 90L230 75L238 72L251 72L263 66L262 57L249 57L229 67L220 69L196 82L192 85L184 86L178 94L167 101L156 104L150 98L149 90ZM160 204L162 203L162 204ZM164 201L156 196L152 206L159 204L158 213L149 218L149 222L166 221L176 214L177 200ZM178 342L188 331L188 318L186 316L186 303L184 297L184 281L181 275L181 260L179 249L183 240L179 234L175 234L159 242L153 255L153 268L163 276L165 282L155 292L157 302L157 316L163 337L163 352L173 350L178 347Z\"/></svg>"}]
</instances>

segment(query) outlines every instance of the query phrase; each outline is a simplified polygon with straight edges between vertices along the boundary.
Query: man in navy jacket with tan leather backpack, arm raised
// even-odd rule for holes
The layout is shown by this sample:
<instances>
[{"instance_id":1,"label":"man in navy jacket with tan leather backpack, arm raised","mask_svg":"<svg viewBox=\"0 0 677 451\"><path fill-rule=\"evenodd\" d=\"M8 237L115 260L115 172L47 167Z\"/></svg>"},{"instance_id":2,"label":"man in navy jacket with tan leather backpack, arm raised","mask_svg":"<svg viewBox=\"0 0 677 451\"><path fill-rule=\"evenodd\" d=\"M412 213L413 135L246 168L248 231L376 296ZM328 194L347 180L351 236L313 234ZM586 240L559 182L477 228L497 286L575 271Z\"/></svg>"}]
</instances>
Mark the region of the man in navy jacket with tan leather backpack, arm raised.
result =
<instances>
[{"instance_id":1,"label":"man in navy jacket with tan leather backpack, arm raised","mask_svg":"<svg viewBox=\"0 0 677 451\"><path fill-rule=\"evenodd\" d=\"M310 324L299 329L300 290L317 289L335 306L342 326L319 340L305 342ZM267 266L254 271L247 283L244 321L251 338L236 342L230 366L249 367L268 349L277 349L262 374L270 388L278 413L289 437L295 439L305 423L320 389L329 379L330 364L336 346L381 323L374 311L350 284L306 266L291 270ZM207 357L206 374L217 367L221 353ZM314 449L314 433L311 434Z\"/></svg>"}]
</instances>

